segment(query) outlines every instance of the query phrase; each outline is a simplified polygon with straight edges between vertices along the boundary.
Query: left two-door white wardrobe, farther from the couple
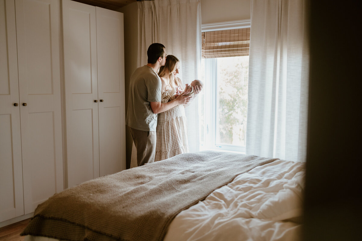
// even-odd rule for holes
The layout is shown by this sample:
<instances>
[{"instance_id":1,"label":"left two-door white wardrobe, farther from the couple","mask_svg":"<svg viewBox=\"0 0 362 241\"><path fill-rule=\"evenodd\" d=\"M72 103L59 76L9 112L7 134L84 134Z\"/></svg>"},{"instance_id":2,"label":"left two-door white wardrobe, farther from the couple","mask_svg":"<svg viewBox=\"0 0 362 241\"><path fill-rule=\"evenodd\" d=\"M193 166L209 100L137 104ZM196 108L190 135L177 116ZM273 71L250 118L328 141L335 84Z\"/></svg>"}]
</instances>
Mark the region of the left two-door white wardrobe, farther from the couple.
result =
<instances>
[{"instance_id":1,"label":"left two-door white wardrobe, farther from the couple","mask_svg":"<svg viewBox=\"0 0 362 241\"><path fill-rule=\"evenodd\" d=\"M0 0L0 222L63 190L60 4Z\"/></svg>"}]
</instances>

